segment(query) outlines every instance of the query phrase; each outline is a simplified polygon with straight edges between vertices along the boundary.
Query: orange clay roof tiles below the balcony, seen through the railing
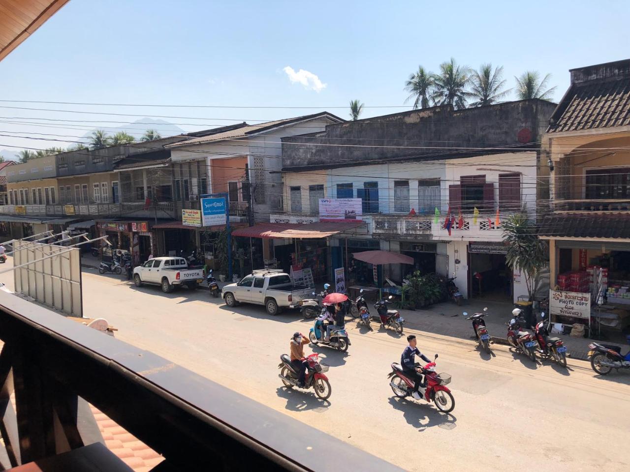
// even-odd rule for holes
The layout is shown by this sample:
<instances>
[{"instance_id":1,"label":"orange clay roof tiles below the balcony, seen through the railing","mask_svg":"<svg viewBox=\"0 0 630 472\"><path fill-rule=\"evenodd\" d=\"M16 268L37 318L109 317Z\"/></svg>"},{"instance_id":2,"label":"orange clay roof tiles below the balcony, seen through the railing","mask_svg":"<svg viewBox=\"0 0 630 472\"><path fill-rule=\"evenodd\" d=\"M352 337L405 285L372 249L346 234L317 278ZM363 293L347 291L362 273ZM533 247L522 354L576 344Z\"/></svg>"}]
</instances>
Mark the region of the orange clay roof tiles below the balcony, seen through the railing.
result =
<instances>
[{"instance_id":1,"label":"orange clay roof tiles below the balcony, seen through the railing","mask_svg":"<svg viewBox=\"0 0 630 472\"><path fill-rule=\"evenodd\" d=\"M149 472L164 460L151 447L110 420L105 413L101 413L95 407L91 408L107 448L134 469L134 472Z\"/></svg>"}]
</instances>

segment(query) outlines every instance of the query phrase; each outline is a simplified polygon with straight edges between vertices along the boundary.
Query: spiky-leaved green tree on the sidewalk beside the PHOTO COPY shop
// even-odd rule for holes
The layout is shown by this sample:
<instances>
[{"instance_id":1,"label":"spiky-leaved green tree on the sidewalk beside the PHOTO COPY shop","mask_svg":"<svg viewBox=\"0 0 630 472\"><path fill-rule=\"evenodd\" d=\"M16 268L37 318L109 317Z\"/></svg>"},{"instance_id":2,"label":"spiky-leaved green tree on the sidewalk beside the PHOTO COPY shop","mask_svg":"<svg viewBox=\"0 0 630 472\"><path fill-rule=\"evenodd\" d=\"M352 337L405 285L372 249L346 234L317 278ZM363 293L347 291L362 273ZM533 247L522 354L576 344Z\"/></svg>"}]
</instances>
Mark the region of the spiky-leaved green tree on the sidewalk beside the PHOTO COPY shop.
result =
<instances>
[{"instance_id":1,"label":"spiky-leaved green tree on the sidewalk beside the PHOTO COPY shop","mask_svg":"<svg viewBox=\"0 0 630 472\"><path fill-rule=\"evenodd\" d=\"M538 228L530 221L525 208L508 216L501 228L503 240L508 244L506 264L524 276L529 300L532 301L536 280L549 264L549 247L538 237Z\"/></svg>"}]
</instances>

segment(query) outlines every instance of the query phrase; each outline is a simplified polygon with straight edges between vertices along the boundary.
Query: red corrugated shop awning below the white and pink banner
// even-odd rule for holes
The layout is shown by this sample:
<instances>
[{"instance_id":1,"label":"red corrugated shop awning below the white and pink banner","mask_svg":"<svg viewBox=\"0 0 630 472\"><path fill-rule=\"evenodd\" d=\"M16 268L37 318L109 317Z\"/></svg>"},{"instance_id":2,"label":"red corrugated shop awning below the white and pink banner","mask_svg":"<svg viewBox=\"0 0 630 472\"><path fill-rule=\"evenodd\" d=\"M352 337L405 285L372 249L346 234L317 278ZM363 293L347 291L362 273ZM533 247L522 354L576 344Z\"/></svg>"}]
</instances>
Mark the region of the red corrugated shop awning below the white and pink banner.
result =
<instances>
[{"instance_id":1,"label":"red corrugated shop awning below the white and pink banner","mask_svg":"<svg viewBox=\"0 0 630 472\"><path fill-rule=\"evenodd\" d=\"M319 239L343 233L364 225L364 222L258 223L233 231L232 236L265 239Z\"/></svg>"}]
</instances>

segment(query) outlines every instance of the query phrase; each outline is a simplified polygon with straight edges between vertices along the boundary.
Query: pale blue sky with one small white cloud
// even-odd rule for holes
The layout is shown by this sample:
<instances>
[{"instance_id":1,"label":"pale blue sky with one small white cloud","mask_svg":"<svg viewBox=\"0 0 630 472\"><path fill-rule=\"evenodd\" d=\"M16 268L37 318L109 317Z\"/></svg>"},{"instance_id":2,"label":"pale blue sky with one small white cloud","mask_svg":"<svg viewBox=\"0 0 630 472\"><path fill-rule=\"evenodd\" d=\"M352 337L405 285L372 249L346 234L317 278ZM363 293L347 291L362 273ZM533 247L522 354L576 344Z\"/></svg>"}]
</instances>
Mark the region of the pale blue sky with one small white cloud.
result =
<instances>
[{"instance_id":1,"label":"pale blue sky with one small white cloud","mask_svg":"<svg viewBox=\"0 0 630 472\"><path fill-rule=\"evenodd\" d=\"M627 1L71 0L0 62L0 100L178 106L0 102L0 150L65 146L144 117L197 131L321 110L348 118L352 99L362 118L396 113L411 108L411 72L451 57L502 65L508 87L525 70L549 73L558 101L569 69L628 59L629 13Z\"/></svg>"}]
</instances>

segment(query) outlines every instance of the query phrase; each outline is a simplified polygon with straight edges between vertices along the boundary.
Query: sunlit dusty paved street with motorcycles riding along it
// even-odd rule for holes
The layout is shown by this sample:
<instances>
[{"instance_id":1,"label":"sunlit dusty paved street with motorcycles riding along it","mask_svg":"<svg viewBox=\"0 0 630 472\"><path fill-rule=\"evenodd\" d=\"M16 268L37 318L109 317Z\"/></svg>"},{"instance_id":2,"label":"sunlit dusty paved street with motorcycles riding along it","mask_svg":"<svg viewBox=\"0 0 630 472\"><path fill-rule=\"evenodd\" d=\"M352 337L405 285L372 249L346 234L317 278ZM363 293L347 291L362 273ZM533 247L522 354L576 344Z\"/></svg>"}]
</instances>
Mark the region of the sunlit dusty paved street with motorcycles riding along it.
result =
<instances>
[{"instance_id":1,"label":"sunlit dusty paved street with motorcycles riding along it","mask_svg":"<svg viewBox=\"0 0 630 472\"><path fill-rule=\"evenodd\" d=\"M12 278L0 276L9 286ZM277 377L278 357L288 352L290 335L307 334L311 326L297 312L270 318L258 306L231 310L205 290L165 295L93 269L84 270L83 286L85 315L106 318L119 329L118 339L406 469L629 467L627 373L599 378L587 362L572 359L567 370L548 362L534 366L507 346L496 345L487 356L472 341L408 330L419 336L421 351L440 354L438 371L452 375L455 410L443 415L433 405L392 396L386 375L389 364L399 360L404 337L367 332L350 322L348 354L314 348L331 366L332 395L320 402L312 391L285 390Z\"/></svg>"}]
</instances>

